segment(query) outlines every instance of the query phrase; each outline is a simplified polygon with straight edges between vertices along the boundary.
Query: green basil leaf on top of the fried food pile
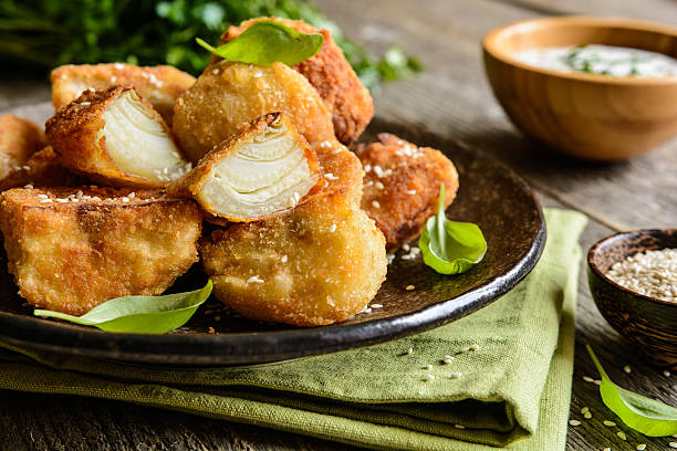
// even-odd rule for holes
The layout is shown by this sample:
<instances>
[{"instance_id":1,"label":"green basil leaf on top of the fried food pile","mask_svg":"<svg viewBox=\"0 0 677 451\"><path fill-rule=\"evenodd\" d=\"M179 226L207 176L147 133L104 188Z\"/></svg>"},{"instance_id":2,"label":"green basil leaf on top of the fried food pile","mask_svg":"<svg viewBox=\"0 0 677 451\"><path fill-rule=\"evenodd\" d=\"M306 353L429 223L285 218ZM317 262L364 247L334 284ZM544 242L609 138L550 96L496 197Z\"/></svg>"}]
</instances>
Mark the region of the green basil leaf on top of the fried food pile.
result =
<instances>
[{"instance_id":1,"label":"green basil leaf on top of the fried food pile","mask_svg":"<svg viewBox=\"0 0 677 451\"><path fill-rule=\"evenodd\" d=\"M199 38L196 41L228 61L262 66L279 61L292 66L320 52L324 36L320 33L304 34L280 22L261 20L216 49Z\"/></svg>"}]
</instances>

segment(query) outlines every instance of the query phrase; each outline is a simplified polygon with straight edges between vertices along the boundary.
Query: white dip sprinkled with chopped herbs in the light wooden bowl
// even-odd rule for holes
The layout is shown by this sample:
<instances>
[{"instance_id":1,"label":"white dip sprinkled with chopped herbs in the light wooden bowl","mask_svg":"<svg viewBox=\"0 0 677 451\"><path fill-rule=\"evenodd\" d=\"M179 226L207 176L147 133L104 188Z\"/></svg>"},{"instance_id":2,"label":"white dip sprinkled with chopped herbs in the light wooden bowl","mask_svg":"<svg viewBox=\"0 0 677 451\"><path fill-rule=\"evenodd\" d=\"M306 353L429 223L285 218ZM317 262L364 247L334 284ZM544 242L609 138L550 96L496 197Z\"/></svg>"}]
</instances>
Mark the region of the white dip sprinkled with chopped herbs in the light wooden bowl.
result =
<instances>
[{"instance_id":1,"label":"white dip sprinkled with chopped herbs in the light wooden bowl","mask_svg":"<svg viewBox=\"0 0 677 451\"><path fill-rule=\"evenodd\" d=\"M532 49L514 57L525 64L560 72L613 76L676 76L677 60L662 53L611 45Z\"/></svg>"}]
</instances>

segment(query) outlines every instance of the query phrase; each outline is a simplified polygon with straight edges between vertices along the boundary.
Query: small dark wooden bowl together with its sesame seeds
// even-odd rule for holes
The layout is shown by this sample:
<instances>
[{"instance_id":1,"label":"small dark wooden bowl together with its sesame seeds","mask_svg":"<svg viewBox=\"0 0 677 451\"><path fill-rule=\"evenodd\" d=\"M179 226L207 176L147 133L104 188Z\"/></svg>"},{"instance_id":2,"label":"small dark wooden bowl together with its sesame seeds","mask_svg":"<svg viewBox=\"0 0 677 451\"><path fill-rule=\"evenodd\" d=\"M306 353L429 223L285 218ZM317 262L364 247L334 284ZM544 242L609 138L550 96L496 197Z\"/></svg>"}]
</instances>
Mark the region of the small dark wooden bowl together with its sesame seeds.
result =
<instances>
[{"instance_id":1,"label":"small dark wooden bowl together with its sesame seeds","mask_svg":"<svg viewBox=\"0 0 677 451\"><path fill-rule=\"evenodd\" d=\"M604 318L655 365L677 367L677 229L621 232L587 253L587 282Z\"/></svg>"}]
</instances>

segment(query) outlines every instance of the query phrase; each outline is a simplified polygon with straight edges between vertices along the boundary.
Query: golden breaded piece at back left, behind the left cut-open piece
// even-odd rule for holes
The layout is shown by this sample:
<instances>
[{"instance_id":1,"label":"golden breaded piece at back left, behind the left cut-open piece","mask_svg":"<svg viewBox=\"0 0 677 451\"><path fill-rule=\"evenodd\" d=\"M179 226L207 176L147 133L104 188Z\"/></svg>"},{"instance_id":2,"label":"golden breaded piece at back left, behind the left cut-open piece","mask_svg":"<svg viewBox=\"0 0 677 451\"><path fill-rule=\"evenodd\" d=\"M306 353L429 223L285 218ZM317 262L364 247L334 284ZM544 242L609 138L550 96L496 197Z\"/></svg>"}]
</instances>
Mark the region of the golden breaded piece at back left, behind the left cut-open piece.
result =
<instances>
[{"instance_id":1,"label":"golden breaded piece at back left, behind the left cut-open piece","mask_svg":"<svg viewBox=\"0 0 677 451\"><path fill-rule=\"evenodd\" d=\"M171 125L174 103L195 77L168 65L139 67L131 64L63 65L52 71L52 104L63 108L87 91L105 91L113 86L134 86Z\"/></svg>"}]
</instances>

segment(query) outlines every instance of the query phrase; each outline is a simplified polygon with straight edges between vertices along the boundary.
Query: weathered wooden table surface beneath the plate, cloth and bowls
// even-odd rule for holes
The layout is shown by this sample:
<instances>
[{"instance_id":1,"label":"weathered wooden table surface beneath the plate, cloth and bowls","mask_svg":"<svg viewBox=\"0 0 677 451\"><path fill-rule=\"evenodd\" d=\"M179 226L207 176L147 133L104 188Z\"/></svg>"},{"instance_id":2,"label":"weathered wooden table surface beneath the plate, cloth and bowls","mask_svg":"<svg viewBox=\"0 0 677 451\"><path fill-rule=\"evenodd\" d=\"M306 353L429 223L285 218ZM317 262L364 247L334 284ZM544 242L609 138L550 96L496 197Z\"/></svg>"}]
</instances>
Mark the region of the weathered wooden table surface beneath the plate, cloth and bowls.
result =
<instances>
[{"instance_id":1,"label":"weathered wooden table surface beneath the plate, cloth and bowls","mask_svg":"<svg viewBox=\"0 0 677 451\"><path fill-rule=\"evenodd\" d=\"M483 75L480 40L506 22L542 14L606 14L677 24L670 0L317 0L357 42L383 52L394 43L417 55L426 72L386 85L375 95L378 129L409 136L434 133L501 159L521 174L543 206L580 210L590 218L581 240L590 245L614 231L677 224L677 141L644 157L614 165L559 156L520 135L491 95ZM565 3L565 4L563 4ZM7 76L7 75L6 75ZM49 99L40 82L0 82L0 109ZM677 375L667 377L642 361L600 315L581 272L570 450L666 450L669 439L652 439L624 428L602 403L597 377L584 345L590 343L618 384L677 405ZM628 365L632 373L623 367ZM583 420L587 406L593 418ZM671 439L675 440L675 439ZM351 447L254 427L209 420L98 399L0 392L2 450L347 450Z\"/></svg>"}]
</instances>

